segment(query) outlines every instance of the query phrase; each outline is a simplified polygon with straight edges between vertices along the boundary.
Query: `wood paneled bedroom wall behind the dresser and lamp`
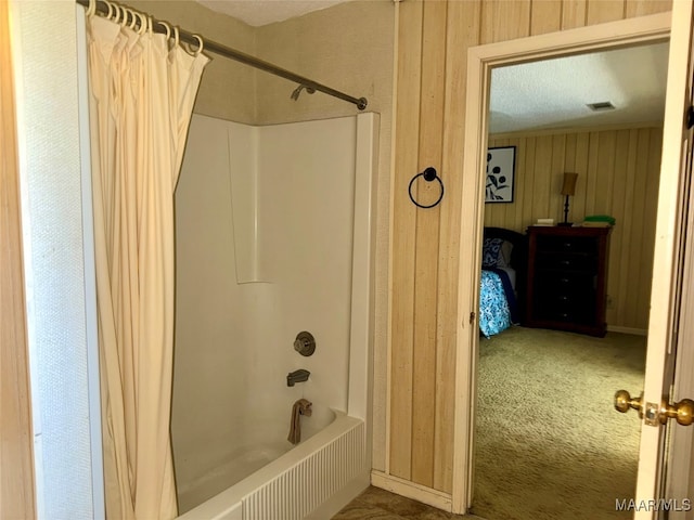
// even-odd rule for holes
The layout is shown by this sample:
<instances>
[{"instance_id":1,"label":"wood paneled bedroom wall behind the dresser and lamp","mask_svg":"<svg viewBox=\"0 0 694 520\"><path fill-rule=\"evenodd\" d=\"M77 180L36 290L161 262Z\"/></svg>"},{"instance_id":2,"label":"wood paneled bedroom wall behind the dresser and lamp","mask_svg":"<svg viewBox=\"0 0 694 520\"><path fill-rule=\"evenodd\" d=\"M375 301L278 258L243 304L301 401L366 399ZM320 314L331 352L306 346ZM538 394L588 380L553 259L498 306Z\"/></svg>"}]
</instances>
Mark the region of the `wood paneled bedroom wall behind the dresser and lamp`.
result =
<instances>
[{"instance_id":1,"label":"wood paneled bedroom wall behind the dresser and lamp","mask_svg":"<svg viewBox=\"0 0 694 520\"><path fill-rule=\"evenodd\" d=\"M516 147L514 202L485 205L485 225L525 232L539 218L564 219L563 172L578 173L569 221L612 214L607 324L648 327L663 128L514 135L489 146Z\"/></svg>"}]
</instances>

